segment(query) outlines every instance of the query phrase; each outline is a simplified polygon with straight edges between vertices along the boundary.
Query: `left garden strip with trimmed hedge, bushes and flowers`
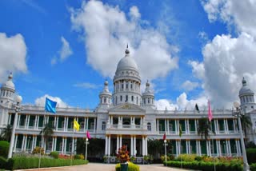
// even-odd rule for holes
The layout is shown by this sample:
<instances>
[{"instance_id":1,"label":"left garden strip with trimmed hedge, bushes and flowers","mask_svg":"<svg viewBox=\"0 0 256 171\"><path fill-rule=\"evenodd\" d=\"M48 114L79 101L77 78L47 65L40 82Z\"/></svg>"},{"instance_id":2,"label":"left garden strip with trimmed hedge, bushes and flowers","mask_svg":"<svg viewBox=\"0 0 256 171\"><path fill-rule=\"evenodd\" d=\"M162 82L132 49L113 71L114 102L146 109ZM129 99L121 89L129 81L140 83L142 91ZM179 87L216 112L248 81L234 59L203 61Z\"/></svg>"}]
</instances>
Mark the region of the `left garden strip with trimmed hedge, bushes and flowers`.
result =
<instances>
[{"instance_id":1,"label":"left garden strip with trimmed hedge, bushes and flowers","mask_svg":"<svg viewBox=\"0 0 256 171\"><path fill-rule=\"evenodd\" d=\"M84 160L82 154L62 155L58 152L45 154L44 149L36 147L32 153L15 153L7 159L10 143L0 141L0 169L33 169L58 167L67 165L85 165L88 161Z\"/></svg>"}]
</instances>

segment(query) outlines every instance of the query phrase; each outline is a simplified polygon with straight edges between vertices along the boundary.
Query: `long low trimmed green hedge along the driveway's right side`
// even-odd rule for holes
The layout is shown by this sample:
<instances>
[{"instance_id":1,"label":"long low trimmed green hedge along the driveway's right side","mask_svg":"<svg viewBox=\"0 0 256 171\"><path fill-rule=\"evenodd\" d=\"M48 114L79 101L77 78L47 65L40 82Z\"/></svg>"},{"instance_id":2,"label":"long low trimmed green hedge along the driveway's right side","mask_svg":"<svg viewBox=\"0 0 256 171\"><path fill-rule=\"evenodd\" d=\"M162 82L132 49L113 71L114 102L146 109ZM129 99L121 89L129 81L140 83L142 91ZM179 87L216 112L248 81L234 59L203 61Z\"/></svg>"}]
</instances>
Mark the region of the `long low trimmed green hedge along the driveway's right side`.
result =
<instances>
[{"instance_id":1,"label":"long low trimmed green hedge along the driveway's right side","mask_svg":"<svg viewBox=\"0 0 256 171\"><path fill-rule=\"evenodd\" d=\"M182 164L182 168L185 169L198 169L202 171L214 171L214 163L213 162L204 162L204 161L164 161L164 165L170 166L170 167L177 167L180 168ZM215 168L218 171L226 171L226 170L232 170L232 171L242 171L242 165L239 163L221 163L216 162Z\"/></svg>"}]
</instances>

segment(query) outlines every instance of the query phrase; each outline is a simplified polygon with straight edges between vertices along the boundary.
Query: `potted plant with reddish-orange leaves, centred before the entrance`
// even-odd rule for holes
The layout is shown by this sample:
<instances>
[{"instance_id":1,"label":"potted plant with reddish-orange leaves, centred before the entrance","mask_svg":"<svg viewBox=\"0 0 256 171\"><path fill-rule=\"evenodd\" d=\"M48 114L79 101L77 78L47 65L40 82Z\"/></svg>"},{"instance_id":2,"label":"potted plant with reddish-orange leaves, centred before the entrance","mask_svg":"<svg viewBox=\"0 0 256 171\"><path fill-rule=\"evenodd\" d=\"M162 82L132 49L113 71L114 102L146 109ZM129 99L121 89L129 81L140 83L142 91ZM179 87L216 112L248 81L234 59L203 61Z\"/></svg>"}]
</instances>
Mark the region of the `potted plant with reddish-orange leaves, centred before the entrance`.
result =
<instances>
[{"instance_id":1,"label":"potted plant with reddish-orange leaves, centred before the entrance","mask_svg":"<svg viewBox=\"0 0 256 171\"><path fill-rule=\"evenodd\" d=\"M130 161L129 152L127 151L126 145L122 145L120 149L118 149L117 154L118 161L120 161L121 171L128 170L128 161Z\"/></svg>"}]
</instances>

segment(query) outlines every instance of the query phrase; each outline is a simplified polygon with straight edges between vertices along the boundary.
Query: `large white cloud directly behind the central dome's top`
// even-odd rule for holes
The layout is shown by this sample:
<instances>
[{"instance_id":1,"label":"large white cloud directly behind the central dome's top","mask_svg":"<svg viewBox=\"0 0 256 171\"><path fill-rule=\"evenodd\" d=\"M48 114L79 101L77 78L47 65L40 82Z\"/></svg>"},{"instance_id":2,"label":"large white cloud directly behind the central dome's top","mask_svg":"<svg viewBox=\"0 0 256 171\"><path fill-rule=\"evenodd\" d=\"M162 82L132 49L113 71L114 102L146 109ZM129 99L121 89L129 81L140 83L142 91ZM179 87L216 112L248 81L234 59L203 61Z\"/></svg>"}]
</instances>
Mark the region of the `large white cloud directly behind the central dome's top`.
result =
<instances>
[{"instance_id":1,"label":"large white cloud directly behind the central dome's top","mask_svg":"<svg viewBox=\"0 0 256 171\"><path fill-rule=\"evenodd\" d=\"M98 1L83 2L80 9L71 9L70 14L73 29L85 35L87 63L104 77L114 76L127 43L143 79L165 77L178 68L178 58L172 56L173 46L157 30L140 26L142 20L136 6L130 8L130 15L136 20L128 20L117 6Z\"/></svg>"}]
</instances>

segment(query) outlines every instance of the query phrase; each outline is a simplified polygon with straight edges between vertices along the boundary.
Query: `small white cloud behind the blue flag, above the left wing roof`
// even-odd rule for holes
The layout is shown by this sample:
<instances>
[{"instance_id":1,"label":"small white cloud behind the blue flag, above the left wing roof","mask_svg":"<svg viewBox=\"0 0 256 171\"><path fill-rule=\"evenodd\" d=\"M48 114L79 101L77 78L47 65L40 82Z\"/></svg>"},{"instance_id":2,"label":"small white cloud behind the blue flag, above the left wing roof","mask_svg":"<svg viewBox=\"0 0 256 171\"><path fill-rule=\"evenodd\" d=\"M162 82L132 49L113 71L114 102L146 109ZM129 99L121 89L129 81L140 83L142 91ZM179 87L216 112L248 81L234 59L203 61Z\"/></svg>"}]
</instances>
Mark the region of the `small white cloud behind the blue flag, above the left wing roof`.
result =
<instances>
[{"instance_id":1,"label":"small white cloud behind the blue flag, above the left wing roof","mask_svg":"<svg viewBox=\"0 0 256 171\"><path fill-rule=\"evenodd\" d=\"M38 97L37 99L35 99L35 101L34 101L35 105L45 106L46 105L46 97L48 97L52 101L57 101L57 107L59 107L59 108L70 107L69 105L66 104L66 102L62 101L62 99L60 97L52 97L48 94L45 94L44 96Z\"/></svg>"}]
</instances>

